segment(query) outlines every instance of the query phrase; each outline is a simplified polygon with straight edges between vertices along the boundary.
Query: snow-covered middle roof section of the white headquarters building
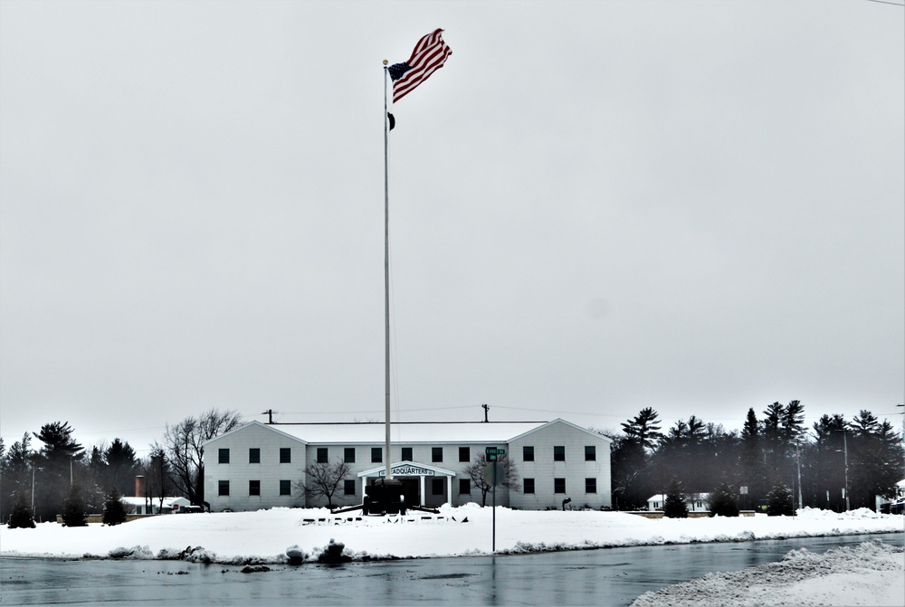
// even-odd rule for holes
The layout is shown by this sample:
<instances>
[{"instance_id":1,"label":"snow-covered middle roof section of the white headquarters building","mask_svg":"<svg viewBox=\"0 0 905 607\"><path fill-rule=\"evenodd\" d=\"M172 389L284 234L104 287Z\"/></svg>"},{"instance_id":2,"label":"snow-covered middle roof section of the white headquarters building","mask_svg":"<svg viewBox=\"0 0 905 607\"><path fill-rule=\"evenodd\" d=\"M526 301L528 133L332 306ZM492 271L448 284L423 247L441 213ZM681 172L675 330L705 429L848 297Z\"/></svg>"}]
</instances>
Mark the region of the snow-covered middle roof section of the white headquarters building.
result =
<instances>
[{"instance_id":1,"label":"snow-covered middle roof section of the white headquarters building","mask_svg":"<svg viewBox=\"0 0 905 607\"><path fill-rule=\"evenodd\" d=\"M260 423L260 422L252 422ZM537 430L548 422L397 422L391 423L390 440L421 442L508 442ZM383 422L360 423L274 423L262 424L310 444L361 444L386 441ZM238 430L238 429L237 429Z\"/></svg>"}]
</instances>

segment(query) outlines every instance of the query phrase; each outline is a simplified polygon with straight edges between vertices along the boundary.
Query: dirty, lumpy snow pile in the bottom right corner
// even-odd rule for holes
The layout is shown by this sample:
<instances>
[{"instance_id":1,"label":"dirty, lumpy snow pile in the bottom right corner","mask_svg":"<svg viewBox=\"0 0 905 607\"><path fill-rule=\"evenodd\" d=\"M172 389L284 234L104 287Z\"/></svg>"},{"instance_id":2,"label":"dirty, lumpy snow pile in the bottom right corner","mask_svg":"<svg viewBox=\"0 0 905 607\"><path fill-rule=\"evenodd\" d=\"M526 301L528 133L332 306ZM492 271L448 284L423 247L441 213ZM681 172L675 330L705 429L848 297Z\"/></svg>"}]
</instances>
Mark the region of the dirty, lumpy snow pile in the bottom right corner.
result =
<instances>
[{"instance_id":1,"label":"dirty, lumpy snow pile in the bottom right corner","mask_svg":"<svg viewBox=\"0 0 905 607\"><path fill-rule=\"evenodd\" d=\"M879 541L823 555L802 548L779 563L707 574L632 603L662 605L905 605L905 549Z\"/></svg>"}]
</instances>

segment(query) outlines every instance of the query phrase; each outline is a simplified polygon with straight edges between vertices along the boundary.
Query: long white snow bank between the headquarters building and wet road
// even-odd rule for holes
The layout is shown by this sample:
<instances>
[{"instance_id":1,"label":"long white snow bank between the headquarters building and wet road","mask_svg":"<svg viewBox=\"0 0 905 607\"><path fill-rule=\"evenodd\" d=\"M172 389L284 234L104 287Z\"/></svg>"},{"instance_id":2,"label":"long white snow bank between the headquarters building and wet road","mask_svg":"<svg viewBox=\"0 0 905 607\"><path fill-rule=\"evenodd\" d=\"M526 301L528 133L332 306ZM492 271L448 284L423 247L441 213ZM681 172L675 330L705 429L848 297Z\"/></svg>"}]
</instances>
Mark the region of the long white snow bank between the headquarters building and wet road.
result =
<instances>
[{"instance_id":1,"label":"long white snow bank between the headquarters building and wet road","mask_svg":"<svg viewBox=\"0 0 905 607\"><path fill-rule=\"evenodd\" d=\"M797 517L648 519L624 512L497 508L498 554L629 545L740 542L903 531L905 517L871 510L837 514L805 508ZM443 507L439 516L333 517L327 509L149 517L123 525L0 527L0 555L181 558L223 564L286 563L287 548L319 555L335 539L353 558L491 554L492 511Z\"/></svg>"}]
</instances>

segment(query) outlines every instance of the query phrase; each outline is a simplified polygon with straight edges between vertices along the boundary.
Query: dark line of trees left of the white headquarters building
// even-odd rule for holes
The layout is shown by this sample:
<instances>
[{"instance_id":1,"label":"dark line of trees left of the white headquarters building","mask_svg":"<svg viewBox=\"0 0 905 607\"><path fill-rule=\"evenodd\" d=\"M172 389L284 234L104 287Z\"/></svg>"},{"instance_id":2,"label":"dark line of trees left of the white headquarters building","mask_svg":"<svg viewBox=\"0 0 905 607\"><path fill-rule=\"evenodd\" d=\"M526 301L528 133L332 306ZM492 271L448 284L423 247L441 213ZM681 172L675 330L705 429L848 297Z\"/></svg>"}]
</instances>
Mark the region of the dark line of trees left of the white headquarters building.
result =
<instances>
[{"instance_id":1,"label":"dark line of trees left of the white headquarters building","mask_svg":"<svg viewBox=\"0 0 905 607\"><path fill-rule=\"evenodd\" d=\"M17 504L39 521L74 510L100 514L111 495L135 495L137 476L145 482L144 495L136 497L146 498L148 505L185 496L203 506L203 445L240 423L242 416L234 411L211 409L186 417L167 424L161 441L151 444L143 458L119 438L86 449L69 422L45 423L8 448L0 438L0 521L7 521Z\"/></svg>"}]
</instances>

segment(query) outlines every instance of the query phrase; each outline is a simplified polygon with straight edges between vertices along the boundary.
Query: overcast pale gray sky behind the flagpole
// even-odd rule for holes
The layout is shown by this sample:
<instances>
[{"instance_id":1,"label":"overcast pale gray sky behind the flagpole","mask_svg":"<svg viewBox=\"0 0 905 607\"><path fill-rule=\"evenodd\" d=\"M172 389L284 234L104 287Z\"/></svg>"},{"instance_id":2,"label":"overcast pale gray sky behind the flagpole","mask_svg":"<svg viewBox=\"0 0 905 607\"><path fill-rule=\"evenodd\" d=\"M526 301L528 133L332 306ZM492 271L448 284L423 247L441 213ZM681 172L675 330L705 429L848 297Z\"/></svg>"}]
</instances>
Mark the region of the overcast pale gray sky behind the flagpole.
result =
<instances>
[{"instance_id":1,"label":"overcast pale gray sky behind the flagpole","mask_svg":"<svg viewBox=\"0 0 905 607\"><path fill-rule=\"evenodd\" d=\"M0 423L905 403L905 9L0 3ZM899 409L900 411L900 409Z\"/></svg>"}]
</instances>

